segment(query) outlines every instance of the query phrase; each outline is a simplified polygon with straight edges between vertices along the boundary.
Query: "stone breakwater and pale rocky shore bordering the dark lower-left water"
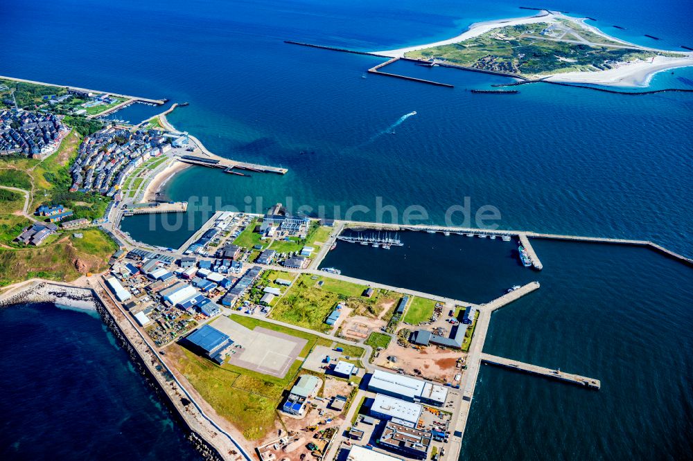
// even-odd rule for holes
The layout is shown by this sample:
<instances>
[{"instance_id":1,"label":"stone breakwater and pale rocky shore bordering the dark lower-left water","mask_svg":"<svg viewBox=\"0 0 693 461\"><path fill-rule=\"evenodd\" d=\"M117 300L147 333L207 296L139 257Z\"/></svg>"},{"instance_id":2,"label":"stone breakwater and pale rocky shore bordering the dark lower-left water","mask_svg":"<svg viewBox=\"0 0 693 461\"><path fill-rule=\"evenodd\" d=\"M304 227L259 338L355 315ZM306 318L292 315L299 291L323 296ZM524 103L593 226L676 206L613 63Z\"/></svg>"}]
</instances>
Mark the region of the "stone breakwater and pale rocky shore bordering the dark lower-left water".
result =
<instances>
[{"instance_id":1,"label":"stone breakwater and pale rocky shore bordering the dark lower-left water","mask_svg":"<svg viewBox=\"0 0 693 461\"><path fill-rule=\"evenodd\" d=\"M144 356L135 349L133 343L125 335L119 323L111 311L102 302L98 294L91 288L73 287L67 284L52 282L30 282L23 287L4 293L0 296L0 307L26 304L30 302L51 302L56 305L96 311L103 323L116 338L116 342L127 352L134 368L141 374L147 385L155 392L161 402L165 404L170 415L179 423L186 432L186 439L202 455L202 459L209 461L221 461L225 458L207 442L190 424L190 417L194 418L194 409L190 401L184 398L172 381L170 374L161 363L152 360L146 363ZM159 377L155 373L159 374ZM170 388L167 388L167 385ZM231 453L229 453L231 454ZM227 457L226 459L229 459Z\"/></svg>"}]
</instances>

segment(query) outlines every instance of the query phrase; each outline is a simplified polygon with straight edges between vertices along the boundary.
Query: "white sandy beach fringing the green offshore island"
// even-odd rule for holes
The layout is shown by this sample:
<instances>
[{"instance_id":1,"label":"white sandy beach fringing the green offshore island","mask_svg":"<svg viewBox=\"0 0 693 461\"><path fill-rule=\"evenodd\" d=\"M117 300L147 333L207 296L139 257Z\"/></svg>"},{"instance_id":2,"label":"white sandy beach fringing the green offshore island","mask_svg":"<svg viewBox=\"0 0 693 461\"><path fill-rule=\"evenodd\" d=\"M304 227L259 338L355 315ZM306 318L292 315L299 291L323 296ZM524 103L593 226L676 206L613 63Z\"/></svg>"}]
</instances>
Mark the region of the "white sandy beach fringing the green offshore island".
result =
<instances>
[{"instance_id":1,"label":"white sandy beach fringing the green offshore island","mask_svg":"<svg viewBox=\"0 0 693 461\"><path fill-rule=\"evenodd\" d=\"M559 13L548 12L545 10L536 16L477 22L469 26L468 30L464 31L464 33L460 35L457 35L457 37L442 40L440 42L409 46L407 48L399 48L396 50L376 51L374 53L390 57L403 57L405 53L409 53L410 51L416 51L424 48L431 48L433 46L442 46L462 42L464 40L468 40L482 35L486 32L489 32L489 30L493 30L495 28L506 26L518 26L520 24L552 22L556 21L557 19L568 19L569 21L575 24L576 29L586 28L592 33L600 35L606 39L619 42L624 46L629 46L639 50L663 51L658 50L656 48L649 48L647 46L636 45L630 42L626 42L622 39L618 39L616 37L611 37L611 35L607 35L606 33L602 32L602 30L599 30L594 26L586 24L585 18L570 17ZM609 69L607 71L558 73L550 75L546 80L550 80L552 82L565 83L570 82L583 84L599 84L613 87L647 87L652 79L652 76L658 72L663 72L669 69L676 69L680 67L693 66L693 53L686 53L681 51L666 52L676 53L681 57L656 56L654 60L651 61L623 62L615 69ZM546 76L547 75L534 75L534 77L536 78Z\"/></svg>"}]
</instances>

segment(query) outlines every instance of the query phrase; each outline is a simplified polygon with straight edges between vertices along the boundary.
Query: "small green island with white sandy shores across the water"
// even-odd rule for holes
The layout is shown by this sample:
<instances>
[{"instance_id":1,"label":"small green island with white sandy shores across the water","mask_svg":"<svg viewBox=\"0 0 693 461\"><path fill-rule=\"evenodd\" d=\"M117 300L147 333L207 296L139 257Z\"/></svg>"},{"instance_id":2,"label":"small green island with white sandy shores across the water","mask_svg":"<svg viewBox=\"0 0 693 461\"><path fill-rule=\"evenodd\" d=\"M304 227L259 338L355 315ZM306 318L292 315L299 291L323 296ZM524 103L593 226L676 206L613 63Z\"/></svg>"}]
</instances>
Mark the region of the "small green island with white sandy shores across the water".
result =
<instances>
[{"instance_id":1,"label":"small green island with white sandy shores across the water","mask_svg":"<svg viewBox=\"0 0 693 461\"><path fill-rule=\"evenodd\" d=\"M646 87L658 71L693 66L693 53L624 42L556 12L472 24L452 39L374 54L453 64L531 80Z\"/></svg>"}]
</instances>

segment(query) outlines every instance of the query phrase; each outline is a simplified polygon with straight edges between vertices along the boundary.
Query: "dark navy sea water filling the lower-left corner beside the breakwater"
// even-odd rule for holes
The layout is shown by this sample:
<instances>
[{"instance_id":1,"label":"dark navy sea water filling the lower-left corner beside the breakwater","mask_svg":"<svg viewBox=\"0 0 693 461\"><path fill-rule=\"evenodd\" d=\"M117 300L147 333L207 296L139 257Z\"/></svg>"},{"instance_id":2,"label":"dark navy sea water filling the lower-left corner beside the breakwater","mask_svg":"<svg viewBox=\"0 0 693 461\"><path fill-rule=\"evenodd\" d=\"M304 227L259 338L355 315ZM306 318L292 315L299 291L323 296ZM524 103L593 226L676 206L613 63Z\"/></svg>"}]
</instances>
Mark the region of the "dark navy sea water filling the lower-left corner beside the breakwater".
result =
<instances>
[{"instance_id":1,"label":"dark navy sea water filling the lower-left corner beside the breakwater","mask_svg":"<svg viewBox=\"0 0 693 461\"><path fill-rule=\"evenodd\" d=\"M198 459L93 311L0 309L0 458Z\"/></svg>"}]
</instances>

